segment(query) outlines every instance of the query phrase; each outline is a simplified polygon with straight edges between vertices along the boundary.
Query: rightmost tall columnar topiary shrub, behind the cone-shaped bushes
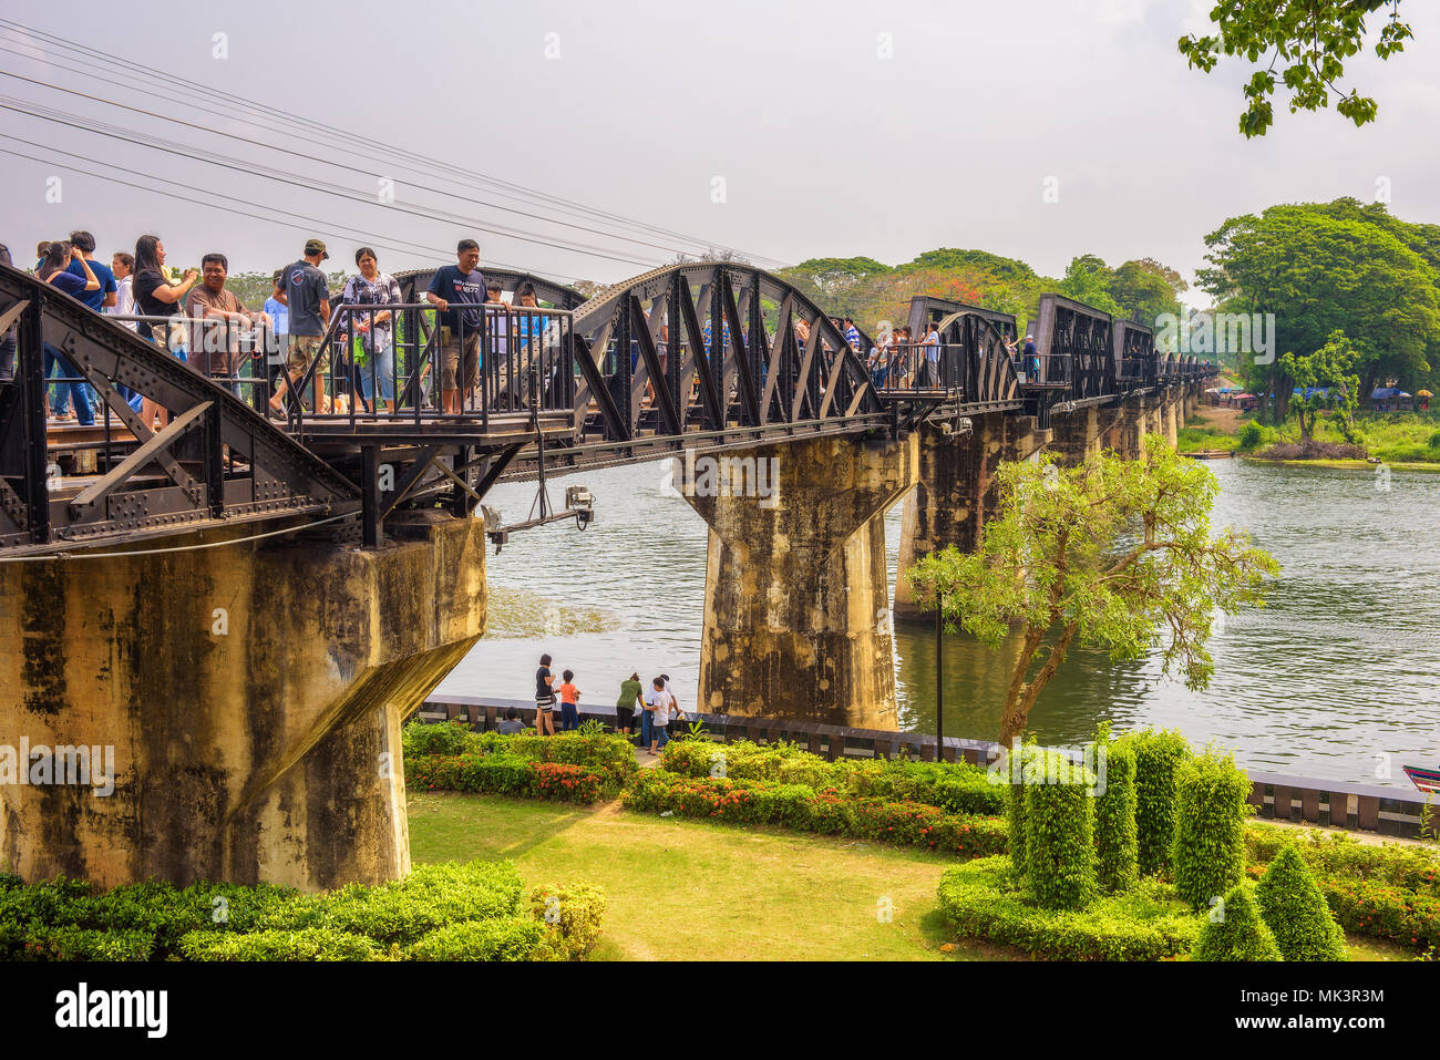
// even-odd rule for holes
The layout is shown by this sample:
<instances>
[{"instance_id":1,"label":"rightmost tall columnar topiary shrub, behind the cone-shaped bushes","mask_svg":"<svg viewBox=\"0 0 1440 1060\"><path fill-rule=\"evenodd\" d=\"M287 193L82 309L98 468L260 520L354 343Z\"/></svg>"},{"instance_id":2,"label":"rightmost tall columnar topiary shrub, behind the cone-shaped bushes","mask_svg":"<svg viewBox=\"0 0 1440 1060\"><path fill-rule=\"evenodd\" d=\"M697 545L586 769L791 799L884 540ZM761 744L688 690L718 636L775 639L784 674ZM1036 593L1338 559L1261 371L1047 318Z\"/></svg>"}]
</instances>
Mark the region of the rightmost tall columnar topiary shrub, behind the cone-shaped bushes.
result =
<instances>
[{"instance_id":1,"label":"rightmost tall columnar topiary shrub, behind the cone-shaped bushes","mask_svg":"<svg viewBox=\"0 0 1440 1060\"><path fill-rule=\"evenodd\" d=\"M1230 755L1207 752L1175 775L1175 891L1204 909L1244 877L1250 778Z\"/></svg>"}]
</instances>

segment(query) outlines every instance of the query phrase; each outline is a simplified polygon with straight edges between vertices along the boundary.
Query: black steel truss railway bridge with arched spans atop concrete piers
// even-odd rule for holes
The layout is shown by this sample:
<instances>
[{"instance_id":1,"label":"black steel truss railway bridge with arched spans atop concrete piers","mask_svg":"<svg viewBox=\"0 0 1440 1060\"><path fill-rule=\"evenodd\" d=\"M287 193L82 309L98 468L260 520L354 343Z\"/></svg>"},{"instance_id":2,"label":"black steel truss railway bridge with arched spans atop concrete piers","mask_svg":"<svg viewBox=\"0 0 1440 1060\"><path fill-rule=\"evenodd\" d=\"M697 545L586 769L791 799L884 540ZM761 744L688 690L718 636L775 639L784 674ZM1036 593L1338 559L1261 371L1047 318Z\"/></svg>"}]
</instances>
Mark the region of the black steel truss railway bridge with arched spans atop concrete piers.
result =
<instances>
[{"instance_id":1,"label":"black steel truss railway bridge with arched spans atop concrete piers","mask_svg":"<svg viewBox=\"0 0 1440 1060\"><path fill-rule=\"evenodd\" d=\"M0 360L14 363L13 382L0 383L0 557L307 526L327 540L377 544L397 513L471 514L503 480L690 448L897 436L989 412L1044 426L1054 410L1212 374L1192 357L1156 356L1149 328L1058 295L1041 298L1031 324L1032 364L1009 347L1014 317L917 297L912 330L919 337L935 325L940 344L897 350L880 372L868 343L851 350L814 302L760 269L674 265L590 298L540 277L482 271L511 297L474 328L474 390L445 390L445 336L423 304L433 274L408 272L396 275L400 307L334 310L301 383L305 392L324 382L348 406L315 410L289 399L275 418L264 410L282 356L255 359L253 380L219 385L0 266L0 336L13 344ZM526 282L547 308L518 305ZM382 308L395 313L395 400L369 409L351 373L369 370L379 395L380 369L350 369L357 357L348 354L357 323L373 325ZM94 387L92 426L48 425L48 354ZM168 422L143 422L127 392L161 406Z\"/></svg>"}]
</instances>

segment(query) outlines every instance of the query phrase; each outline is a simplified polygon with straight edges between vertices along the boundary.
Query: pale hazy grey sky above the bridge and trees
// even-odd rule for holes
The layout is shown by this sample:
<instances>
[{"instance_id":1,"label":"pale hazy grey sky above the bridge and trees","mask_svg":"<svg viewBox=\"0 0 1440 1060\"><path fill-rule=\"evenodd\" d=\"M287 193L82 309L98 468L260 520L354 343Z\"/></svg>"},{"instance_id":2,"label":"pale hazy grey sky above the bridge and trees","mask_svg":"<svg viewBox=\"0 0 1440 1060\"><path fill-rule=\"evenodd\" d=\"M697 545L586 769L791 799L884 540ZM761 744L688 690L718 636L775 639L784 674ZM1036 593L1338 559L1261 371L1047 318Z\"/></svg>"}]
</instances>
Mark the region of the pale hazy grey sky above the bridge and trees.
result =
<instances>
[{"instance_id":1,"label":"pale hazy grey sky above the bridge and trees","mask_svg":"<svg viewBox=\"0 0 1440 1060\"><path fill-rule=\"evenodd\" d=\"M1280 202L1385 189L1398 216L1440 220L1440 6L1408 0L1417 40L1349 62L1345 82L1378 99L1378 121L1292 115L1280 96L1250 141L1237 131L1248 68L1207 76L1175 48L1210 6L0 0L0 19L32 30L0 27L0 71L99 96L0 76L0 104L141 141L0 109L0 148L37 158L0 153L0 242L86 228L108 259L154 232L171 265L222 251L232 271L272 271L318 235L333 268L353 271L369 242L397 271L452 261L474 235L482 261L599 282L710 245L768 268L955 246L1056 277L1079 253L1151 256L1191 279L1208 232ZM206 91L144 94L145 69ZM315 122L315 143L276 109Z\"/></svg>"}]
</instances>

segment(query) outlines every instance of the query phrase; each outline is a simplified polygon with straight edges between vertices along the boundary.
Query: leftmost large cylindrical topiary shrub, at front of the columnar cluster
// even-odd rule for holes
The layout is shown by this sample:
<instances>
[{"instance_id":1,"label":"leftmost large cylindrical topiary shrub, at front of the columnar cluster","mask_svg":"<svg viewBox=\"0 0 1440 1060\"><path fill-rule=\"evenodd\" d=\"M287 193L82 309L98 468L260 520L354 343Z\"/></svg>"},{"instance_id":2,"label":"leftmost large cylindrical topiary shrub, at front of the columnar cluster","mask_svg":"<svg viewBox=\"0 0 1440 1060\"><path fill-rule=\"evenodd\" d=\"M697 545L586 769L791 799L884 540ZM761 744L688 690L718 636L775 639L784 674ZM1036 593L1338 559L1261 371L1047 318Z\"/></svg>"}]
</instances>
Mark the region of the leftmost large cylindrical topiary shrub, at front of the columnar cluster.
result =
<instances>
[{"instance_id":1,"label":"leftmost large cylindrical topiary shrub, at front of the columnar cluster","mask_svg":"<svg viewBox=\"0 0 1440 1060\"><path fill-rule=\"evenodd\" d=\"M1084 909L1096 894L1094 775L1047 750L1025 763L1025 781L1030 893L1045 909Z\"/></svg>"}]
</instances>

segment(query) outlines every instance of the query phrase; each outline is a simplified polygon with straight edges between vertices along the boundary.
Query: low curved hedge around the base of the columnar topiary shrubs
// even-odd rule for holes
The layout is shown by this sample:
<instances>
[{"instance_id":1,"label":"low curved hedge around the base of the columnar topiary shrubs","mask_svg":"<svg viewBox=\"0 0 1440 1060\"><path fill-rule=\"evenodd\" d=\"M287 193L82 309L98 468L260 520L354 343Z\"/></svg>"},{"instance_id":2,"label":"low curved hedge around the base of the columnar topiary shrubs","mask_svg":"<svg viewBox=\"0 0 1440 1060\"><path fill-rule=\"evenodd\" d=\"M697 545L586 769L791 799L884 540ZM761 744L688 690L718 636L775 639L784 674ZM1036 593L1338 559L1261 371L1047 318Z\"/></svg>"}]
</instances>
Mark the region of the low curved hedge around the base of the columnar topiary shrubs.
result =
<instances>
[{"instance_id":1,"label":"low curved hedge around the base of the columnar topiary shrubs","mask_svg":"<svg viewBox=\"0 0 1440 1060\"><path fill-rule=\"evenodd\" d=\"M1189 952L1204 917L1174 890L1145 880L1083 910L1043 909L1012 884L1008 857L976 858L940 874L940 909L973 939L1056 961L1165 961Z\"/></svg>"}]
</instances>

